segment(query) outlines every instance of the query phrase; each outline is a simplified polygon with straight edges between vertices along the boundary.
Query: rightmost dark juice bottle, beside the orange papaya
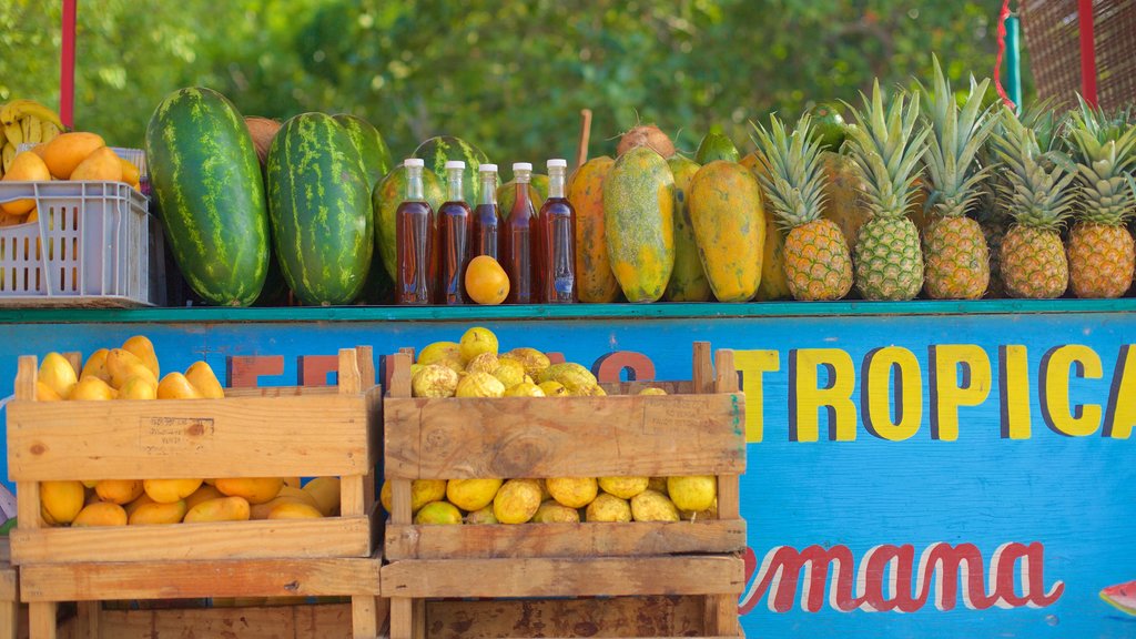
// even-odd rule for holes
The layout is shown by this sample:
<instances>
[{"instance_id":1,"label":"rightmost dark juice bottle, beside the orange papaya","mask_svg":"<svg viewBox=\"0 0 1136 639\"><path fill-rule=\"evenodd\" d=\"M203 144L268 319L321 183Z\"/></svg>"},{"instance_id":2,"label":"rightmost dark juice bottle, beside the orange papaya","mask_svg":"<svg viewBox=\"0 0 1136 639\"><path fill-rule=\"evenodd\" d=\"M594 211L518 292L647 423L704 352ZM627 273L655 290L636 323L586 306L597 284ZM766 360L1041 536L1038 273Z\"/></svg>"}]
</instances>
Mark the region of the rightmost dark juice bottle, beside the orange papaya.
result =
<instances>
[{"instance_id":1,"label":"rightmost dark juice bottle, beside the orange papaya","mask_svg":"<svg viewBox=\"0 0 1136 639\"><path fill-rule=\"evenodd\" d=\"M568 163L550 159L548 166L549 199L536 216L541 301L571 304L576 301L576 211L565 193Z\"/></svg>"}]
</instances>

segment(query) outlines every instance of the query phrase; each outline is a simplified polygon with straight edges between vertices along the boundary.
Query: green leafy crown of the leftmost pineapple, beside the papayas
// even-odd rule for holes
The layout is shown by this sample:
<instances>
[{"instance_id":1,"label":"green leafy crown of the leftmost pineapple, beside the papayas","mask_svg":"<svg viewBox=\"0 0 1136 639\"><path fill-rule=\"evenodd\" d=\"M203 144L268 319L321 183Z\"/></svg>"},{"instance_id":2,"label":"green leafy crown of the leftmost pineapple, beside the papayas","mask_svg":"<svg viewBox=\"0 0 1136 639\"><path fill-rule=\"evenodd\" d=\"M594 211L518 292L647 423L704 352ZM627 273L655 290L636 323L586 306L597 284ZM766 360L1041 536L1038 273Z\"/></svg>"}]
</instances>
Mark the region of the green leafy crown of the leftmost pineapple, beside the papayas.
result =
<instances>
[{"instance_id":1,"label":"green leafy crown of the leftmost pineapple, beside the papayas","mask_svg":"<svg viewBox=\"0 0 1136 639\"><path fill-rule=\"evenodd\" d=\"M765 168L759 180L777 211L777 225L791 231L820 219L825 204L825 172L820 163L820 140L813 135L812 118L801 116L788 133L776 115L769 116L771 132L760 124L751 138L761 151Z\"/></svg>"}]
</instances>

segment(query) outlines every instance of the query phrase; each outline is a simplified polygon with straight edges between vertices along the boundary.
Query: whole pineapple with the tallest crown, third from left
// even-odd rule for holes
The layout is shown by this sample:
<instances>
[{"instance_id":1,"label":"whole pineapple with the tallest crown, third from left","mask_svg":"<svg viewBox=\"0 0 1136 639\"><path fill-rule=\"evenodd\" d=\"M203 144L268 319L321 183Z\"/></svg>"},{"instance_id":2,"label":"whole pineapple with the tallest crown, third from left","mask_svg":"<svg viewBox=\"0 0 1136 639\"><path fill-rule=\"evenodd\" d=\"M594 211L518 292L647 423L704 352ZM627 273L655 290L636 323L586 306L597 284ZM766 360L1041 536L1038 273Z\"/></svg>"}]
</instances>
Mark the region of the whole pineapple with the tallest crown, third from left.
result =
<instances>
[{"instance_id":1,"label":"whole pineapple with the tallest crown, third from left","mask_svg":"<svg viewBox=\"0 0 1136 639\"><path fill-rule=\"evenodd\" d=\"M934 92L924 91L928 128L927 184L934 217L924 232L927 296L933 299L978 299L989 284L989 249L982 225L967 217L978 199L987 168L975 160L995 119L982 108L989 81L971 84L961 109L935 63Z\"/></svg>"}]
</instances>

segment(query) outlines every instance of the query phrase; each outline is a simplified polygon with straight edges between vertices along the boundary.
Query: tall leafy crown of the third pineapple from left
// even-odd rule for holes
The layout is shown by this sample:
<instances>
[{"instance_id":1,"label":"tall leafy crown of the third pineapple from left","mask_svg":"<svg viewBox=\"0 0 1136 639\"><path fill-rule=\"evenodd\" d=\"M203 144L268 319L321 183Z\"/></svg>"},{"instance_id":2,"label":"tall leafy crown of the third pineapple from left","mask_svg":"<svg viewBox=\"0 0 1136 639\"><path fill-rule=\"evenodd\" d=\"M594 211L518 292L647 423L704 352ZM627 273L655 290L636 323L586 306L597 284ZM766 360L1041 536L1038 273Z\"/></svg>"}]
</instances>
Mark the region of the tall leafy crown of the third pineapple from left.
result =
<instances>
[{"instance_id":1,"label":"tall leafy crown of the third pineapple from left","mask_svg":"<svg viewBox=\"0 0 1136 639\"><path fill-rule=\"evenodd\" d=\"M993 106L982 106L988 80L976 83L971 77L970 92L960 108L938 58L932 59L934 91L917 81L924 96L924 126L929 130L924 155L930 191L927 207L943 217L961 217L978 199L978 188L989 171L988 166L976 166L976 159L997 121L991 117Z\"/></svg>"}]
</instances>

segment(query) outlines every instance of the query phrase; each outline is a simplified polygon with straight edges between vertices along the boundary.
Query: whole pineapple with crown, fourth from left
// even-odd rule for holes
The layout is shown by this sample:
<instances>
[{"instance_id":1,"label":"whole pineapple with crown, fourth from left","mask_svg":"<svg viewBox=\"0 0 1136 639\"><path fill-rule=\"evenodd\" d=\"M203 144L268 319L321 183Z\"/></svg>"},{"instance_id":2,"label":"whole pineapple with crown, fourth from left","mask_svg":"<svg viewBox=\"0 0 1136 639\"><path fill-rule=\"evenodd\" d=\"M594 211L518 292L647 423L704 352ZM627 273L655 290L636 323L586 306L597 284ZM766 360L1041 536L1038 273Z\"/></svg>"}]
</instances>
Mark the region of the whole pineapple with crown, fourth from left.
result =
<instances>
[{"instance_id":1,"label":"whole pineapple with crown, fourth from left","mask_svg":"<svg viewBox=\"0 0 1136 639\"><path fill-rule=\"evenodd\" d=\"M1055 152L1042 152L1037 136L1008 108L1003 131L992 138L1004 167L999 197L1013 225L1002 239L1002 279L1017 298L1055 298L1069 285L1061 226L1069 217L1076 173Z\"/></svg>"}]
</instances>

